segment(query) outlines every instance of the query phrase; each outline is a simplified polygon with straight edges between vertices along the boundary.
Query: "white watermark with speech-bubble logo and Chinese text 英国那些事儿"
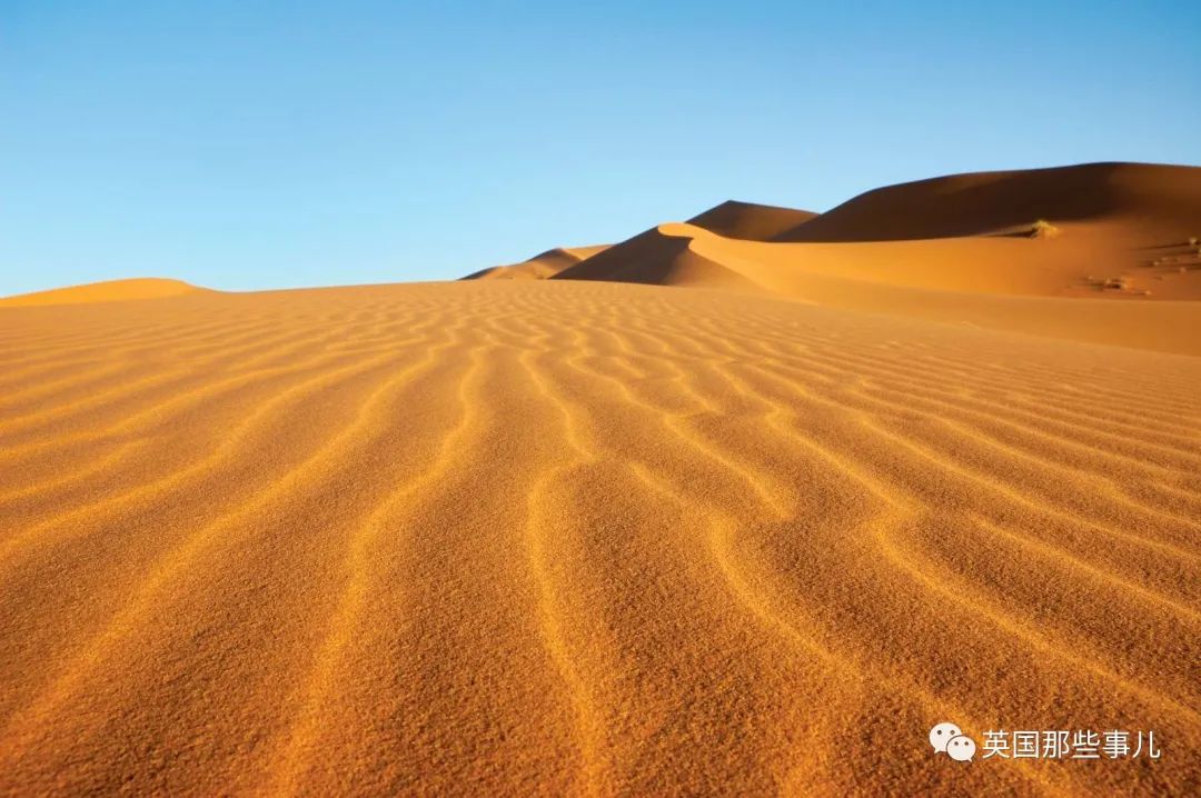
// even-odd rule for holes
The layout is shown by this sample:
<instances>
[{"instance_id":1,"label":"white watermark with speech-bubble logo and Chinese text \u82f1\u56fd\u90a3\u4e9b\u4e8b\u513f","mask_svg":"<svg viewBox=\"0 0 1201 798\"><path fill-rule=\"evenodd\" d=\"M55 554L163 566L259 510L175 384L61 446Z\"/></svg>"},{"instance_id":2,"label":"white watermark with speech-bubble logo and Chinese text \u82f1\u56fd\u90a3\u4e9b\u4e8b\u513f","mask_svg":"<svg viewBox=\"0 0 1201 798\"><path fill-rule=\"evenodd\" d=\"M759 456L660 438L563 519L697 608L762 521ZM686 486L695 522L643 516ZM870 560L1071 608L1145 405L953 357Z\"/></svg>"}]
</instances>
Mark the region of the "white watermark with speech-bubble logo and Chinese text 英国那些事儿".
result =
<instances>
[{"instance_id":1,"label":"white watermark with speech-bubble logo and Chinese text \u82f1\u56fd\u90a3\u4e9b\u4e8b\u513f","mask_svg":"<svg viewBox=\"0 0 1201 798\"><path fill-rule=\"evenodd\" d=\"M974 739L956 724L938 724L930 730L934 754L946 754L956 762L972 762L976 752ZM1163 751L1154 731L1130 732L1121 728L1093 731L1068 730L990 730L984 733L981 760L1158 760Z\"/></svg>"}]
</instances>

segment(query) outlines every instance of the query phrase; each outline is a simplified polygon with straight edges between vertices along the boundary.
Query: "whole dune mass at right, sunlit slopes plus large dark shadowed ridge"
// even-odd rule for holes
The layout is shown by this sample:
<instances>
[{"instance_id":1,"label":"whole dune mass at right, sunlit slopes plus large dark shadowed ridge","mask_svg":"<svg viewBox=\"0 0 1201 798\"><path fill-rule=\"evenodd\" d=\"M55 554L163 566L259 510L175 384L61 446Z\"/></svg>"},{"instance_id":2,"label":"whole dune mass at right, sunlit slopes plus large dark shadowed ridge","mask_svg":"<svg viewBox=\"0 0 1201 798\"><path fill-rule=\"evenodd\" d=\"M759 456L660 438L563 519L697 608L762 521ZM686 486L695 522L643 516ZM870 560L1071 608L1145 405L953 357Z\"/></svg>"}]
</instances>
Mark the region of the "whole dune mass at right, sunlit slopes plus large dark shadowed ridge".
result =
<instances>
[{"instance_id":1,"label":"whole dune mass at right, sunlit slopes plus large dark shadowed ridge","mask_svg":"<svg viewBox=\"0 0 1201 798\"><path fill-rule=\"evenodd\" d=\"M1201 353L1199 176L1088 164L940 178L868 192L771 241L723 235L736 230L719 224L661 224L556 277L770 292ZM1145 304L1158 307L1136 307Z\"/></svg>"}]
</instances>

